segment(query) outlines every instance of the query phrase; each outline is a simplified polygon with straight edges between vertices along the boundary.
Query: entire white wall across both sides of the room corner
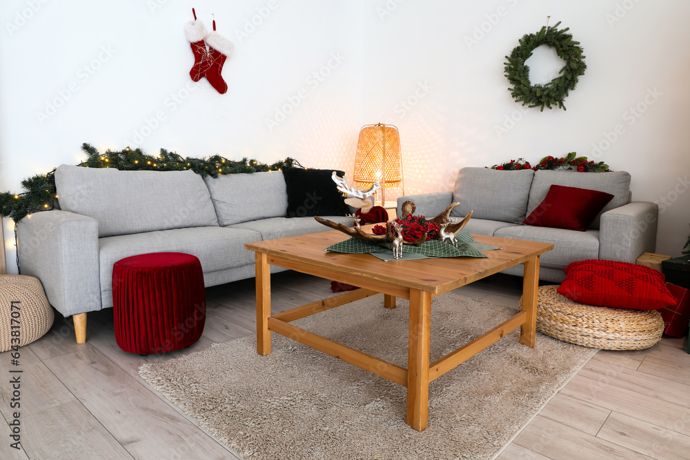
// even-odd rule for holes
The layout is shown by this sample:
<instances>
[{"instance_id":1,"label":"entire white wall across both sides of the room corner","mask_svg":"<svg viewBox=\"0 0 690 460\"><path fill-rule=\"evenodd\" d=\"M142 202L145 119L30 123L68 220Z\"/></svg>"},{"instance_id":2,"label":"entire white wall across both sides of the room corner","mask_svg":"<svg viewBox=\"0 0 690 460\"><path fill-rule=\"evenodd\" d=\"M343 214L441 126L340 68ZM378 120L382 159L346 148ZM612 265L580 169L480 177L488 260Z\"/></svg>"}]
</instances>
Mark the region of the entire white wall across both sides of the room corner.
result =
<instances>
[{"instance_id":1,"label":"entire white wall across both sides of the room corner","mask_svg":"<svg viewBox=\"0 0 690 460\"><path fill-rule=\"evenodd\" d=\"M629 171L634 199L667 201L658 252L679 254L690 232L687 1L181 3L0 2L0 190L78 163L83 142L264 162L291 156L351 173L359 127L385 121L400 128L408 193L451 190L462 166L576 151ZM226 94L188 77L191 6L208 28L215 13L218 31L235 42ZM522 109L507 90L504 56L549 14L582 43L588 69L567 111ZM548 73L547 61L531 63L533 72ZM70 83L77 90L63 97ZM638 104L645 111L631 124ZM270 129L267 119L282 119L277 110L290 113ZM165 119L152 121L157 114ZM618 124L624 132L607 146ZM4 227L7 247L11 223ZM11 267L12 250L7 260Z\"/></svg>"}]
</instances>

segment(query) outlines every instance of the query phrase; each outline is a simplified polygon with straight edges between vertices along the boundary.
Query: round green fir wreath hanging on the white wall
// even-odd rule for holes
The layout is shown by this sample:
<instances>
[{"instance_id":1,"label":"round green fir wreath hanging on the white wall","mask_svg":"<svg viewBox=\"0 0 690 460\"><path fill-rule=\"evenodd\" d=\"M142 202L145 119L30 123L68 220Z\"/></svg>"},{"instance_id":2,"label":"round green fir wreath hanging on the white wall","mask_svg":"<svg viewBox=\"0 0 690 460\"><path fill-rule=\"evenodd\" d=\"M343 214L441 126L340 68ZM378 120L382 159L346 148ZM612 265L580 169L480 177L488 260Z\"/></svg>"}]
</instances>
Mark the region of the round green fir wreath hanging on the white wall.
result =
<instances>
[{"instance_id":1,"label":"round green fir wreath hanging on the white wall","mask_svg":"<svg viewBox=\"0 0 690 460\"><path fill-rule=\"evenodd\" d=\"M526 34L520 39L520 46L513 48L510 56L506 56L505 74L511 83L511 96L516 102L522 102L523 106L540 107L558 105L566 110L563 100L570 90L575 89L578 77L584 75L587 68L582 55L582 47L579 41L573 40L573 35L567 33L569 28L558 30L558 25L542 27L537 34ZM531 57L532 52L542 45L550 46L565 61L565 66L558 72L560 77L546 83L546 85L532 85L529 81L529 66L525 61Z\"/></svg>"}]
</instances>

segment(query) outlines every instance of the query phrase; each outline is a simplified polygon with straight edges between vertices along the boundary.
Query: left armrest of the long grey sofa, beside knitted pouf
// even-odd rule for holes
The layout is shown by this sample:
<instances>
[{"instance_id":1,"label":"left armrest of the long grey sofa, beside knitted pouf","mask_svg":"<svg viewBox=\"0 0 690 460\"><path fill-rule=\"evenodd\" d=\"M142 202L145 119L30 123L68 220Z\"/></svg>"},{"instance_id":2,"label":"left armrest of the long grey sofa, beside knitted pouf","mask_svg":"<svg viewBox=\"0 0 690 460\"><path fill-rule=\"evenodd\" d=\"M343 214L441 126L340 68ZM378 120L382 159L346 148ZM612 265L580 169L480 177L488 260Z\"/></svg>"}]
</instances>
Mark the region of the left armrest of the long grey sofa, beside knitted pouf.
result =
<instances>
[{"instance_id":1,"label":"left armrest of the long grey sofa, beside knitted pouf","mask_svg":"<svg viewBox=\"0 0 690 460\"><path fill-rule=\"evenodd\" d=\"M21 274L37 277L50 305L68 317L101 310L98 222L52 210L17 225Z\"/></svg>"}]
</instances>

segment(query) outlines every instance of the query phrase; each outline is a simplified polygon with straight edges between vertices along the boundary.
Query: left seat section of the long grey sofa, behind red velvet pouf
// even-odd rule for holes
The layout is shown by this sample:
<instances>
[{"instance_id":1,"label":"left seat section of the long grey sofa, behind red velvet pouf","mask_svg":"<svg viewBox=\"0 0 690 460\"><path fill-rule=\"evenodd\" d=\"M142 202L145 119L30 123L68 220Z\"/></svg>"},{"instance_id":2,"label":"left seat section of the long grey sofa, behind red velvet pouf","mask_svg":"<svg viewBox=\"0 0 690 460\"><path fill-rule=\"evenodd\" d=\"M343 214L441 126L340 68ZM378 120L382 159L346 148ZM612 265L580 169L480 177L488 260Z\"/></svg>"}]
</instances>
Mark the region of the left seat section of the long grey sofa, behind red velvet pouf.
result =
<instances>
[{"instance_id":1,"label":"left seat section of the long grey sofa, behind red velvet pouf","mask_svg":"<svg viewBox=\"0 0 690 460\"><path fill-rule=\"evenodd\" d=\"M112 264L119 259L150 252L184 252L199 258L206 279L208 273L253 266L254 252L246 250L244 244L256 241L261 241L258 232L219 226L99 238L103 308L112 306Z\"/></svg>"}]
</instances>

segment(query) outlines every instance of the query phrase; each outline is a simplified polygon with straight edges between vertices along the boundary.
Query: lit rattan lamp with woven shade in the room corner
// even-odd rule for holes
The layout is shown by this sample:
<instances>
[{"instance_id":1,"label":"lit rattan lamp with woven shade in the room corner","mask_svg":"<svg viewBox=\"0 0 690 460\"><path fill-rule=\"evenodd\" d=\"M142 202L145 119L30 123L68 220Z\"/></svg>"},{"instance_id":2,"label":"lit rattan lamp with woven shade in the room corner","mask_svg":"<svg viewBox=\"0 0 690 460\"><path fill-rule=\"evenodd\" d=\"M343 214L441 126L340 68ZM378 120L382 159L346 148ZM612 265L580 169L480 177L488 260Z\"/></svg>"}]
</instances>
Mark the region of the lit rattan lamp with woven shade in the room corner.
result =
<instances>
[{"instance_id":1,"label":"lit rattan lamp with woven shade in the room corner","mask_svg":"<svg viewBox=\"0 0 690 460\"><path fill-rule=\"evenodd\" d=\"M359 130L357 156L355 157L356 187L371 187L375 181L381 185L381 206L386 207L386 188L400 187L402 181L402 153L400 132L393 125L377 123L365 125Z\"/></svg>"}]
</instances>

